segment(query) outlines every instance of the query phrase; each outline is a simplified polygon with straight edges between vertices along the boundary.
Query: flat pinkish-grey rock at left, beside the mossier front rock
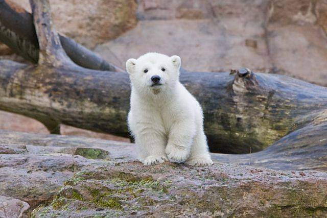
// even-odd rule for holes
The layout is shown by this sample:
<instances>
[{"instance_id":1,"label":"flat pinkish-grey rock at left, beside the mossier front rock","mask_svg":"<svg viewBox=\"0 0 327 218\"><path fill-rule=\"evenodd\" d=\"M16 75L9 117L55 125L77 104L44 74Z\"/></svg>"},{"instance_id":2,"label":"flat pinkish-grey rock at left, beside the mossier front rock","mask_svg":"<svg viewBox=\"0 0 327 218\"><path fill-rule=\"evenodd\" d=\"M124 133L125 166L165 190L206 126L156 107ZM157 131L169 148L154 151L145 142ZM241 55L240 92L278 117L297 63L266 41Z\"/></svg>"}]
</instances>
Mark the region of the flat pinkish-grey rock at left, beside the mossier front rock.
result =
<instances>
[{"instance_id":1,"label":"flat pinkish-grey rock at left, beside the mossier front rock","mask_svg":"<svg viewBox=\"0 0 327 218\"><path fill-rule=\"evenodd\" d=\"M56 135L37 137L2 132L0 195L20 199L35 208L51 202L65 180L71 178L82 166L95 162L95 159L131 157L131 152L128 153L123 142L79 137L69 138L69 141L67 139ZM95 141L97 143L93 147ZM110 155L106 151L108 144L111 144L110 149L116 148Z\"/></svg>"}]
</instances>

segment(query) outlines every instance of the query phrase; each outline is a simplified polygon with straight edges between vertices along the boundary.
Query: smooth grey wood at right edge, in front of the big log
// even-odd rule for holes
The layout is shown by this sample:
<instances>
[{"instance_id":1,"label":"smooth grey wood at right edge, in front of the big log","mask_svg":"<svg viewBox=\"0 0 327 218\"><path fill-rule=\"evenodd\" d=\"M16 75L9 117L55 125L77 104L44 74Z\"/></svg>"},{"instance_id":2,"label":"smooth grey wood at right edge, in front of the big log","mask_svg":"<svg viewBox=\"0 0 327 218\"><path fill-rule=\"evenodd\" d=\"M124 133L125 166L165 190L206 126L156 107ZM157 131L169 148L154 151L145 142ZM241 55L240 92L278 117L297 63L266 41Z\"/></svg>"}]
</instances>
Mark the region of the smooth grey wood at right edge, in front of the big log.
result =
<instances>
[{"instance_id":1,"label":"smooth grey wood at right edge, in front of the big log","mask_svg":"<svg viewBox=\"0 0 327 218\"><path fill-rule=\"evenodd\" d=\"M326 113L323 115L326 119ZM321 124L323 123L323 124ZM310 124L294 131L261 152L243 155L212 154L219 163L237 163L272 169L327 171L327 123Z\"/></svg>"}]
</instances>

